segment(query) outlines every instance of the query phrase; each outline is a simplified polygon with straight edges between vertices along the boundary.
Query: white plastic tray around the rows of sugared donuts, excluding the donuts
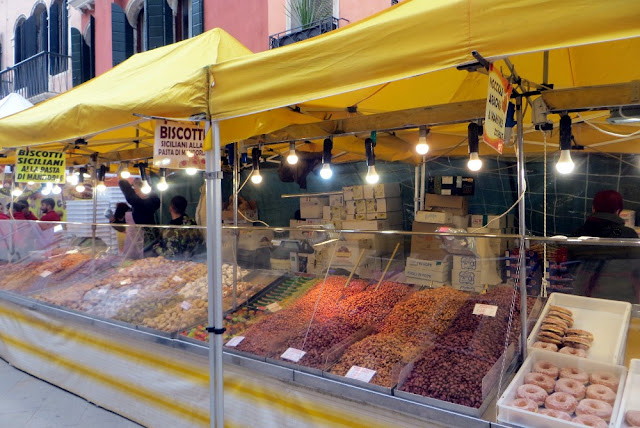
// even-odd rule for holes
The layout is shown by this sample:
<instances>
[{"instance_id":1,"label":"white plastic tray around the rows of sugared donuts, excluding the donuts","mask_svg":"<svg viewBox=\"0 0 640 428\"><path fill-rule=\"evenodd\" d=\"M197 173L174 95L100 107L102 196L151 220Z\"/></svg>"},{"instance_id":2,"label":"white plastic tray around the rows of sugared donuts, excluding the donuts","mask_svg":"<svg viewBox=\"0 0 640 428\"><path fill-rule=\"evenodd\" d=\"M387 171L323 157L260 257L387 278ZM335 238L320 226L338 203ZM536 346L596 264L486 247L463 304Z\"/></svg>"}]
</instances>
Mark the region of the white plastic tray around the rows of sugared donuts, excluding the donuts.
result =
<instances>
[{"instance_id":1,"label":"white plastic tray around the rows of sugared donuts, excluding the donuts","mask_svg":"<svg viewBox=\"0 0 640 428\"><path fill-rule=\"evenodd\" d=\"M613 364L601 363L599 361L587 360L585 358L578 358L573 355L558 354L557 352L548 352L541 349L534 349L529 357L525 360L513 378L513 381L509 384L504 391L500 400L498 400L498 422L504 422L522 427L532 428L573 428L583 427L583 425L573 422L563 421L561 419L552 418L550 416L541 415L539 413L528 412L526 410L517 409L511 407L510 404L516 398L516 389L524 383L524 377L527 373L531 372L531 367L536 361L546 360L551 361L559 368L563 367L578 367L585 370L587 373L594 371L607 371L615 373L620 378L620 386L616 395L616 401L613 404L613 412L611 414L610 427L615 427L617 421L618 409L622 403L622 385L624 385L627 368L624 366L618 366ZM640 398L640 397L639 397Z\"/></svg>"}]
</instances>

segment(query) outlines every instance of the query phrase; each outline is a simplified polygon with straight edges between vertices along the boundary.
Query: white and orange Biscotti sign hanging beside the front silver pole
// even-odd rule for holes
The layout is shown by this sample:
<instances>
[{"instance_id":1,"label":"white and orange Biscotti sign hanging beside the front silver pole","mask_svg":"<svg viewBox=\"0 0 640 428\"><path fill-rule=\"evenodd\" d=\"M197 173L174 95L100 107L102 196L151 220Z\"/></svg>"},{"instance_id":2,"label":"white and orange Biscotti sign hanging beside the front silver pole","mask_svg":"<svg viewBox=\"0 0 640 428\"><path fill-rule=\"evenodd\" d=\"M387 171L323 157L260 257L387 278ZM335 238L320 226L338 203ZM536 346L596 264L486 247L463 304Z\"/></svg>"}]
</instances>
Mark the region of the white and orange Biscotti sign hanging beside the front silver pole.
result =
<instances>
[{"instance_id":1,"label":"white and orange Biscotti sign hanging beside the front silver pole","mask_svg":"<svg viewBox=\"0 0 640 428\"><path fill-rule=\"evenodd\" d=\"M171 169L204 169L205 134L199 123L156 121L153 164Z\"/></svg>"}]
</instances>

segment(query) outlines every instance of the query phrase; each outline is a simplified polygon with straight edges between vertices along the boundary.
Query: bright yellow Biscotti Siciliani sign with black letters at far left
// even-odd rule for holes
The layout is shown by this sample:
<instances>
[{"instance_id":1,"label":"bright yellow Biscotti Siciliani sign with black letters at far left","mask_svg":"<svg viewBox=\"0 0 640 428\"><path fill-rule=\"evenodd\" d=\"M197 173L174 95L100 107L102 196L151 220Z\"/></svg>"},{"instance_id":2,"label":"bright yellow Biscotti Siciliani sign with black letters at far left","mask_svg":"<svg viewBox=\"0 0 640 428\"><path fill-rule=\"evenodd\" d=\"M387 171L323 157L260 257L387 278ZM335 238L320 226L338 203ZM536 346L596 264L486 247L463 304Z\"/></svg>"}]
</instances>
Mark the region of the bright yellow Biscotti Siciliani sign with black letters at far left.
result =
<instances>
[{"instance_id":1,"label":"bright yellow Biscotti Siciliani sign with black letters at far left","mask_svg":"<svg viewBox=\"0 0 640 428\"><path fill-rule=\"evenodd\" d=\"M62 152L18 149L15 181L17 183L64 183L66 160Z\"/></svg>"}]
</instances>

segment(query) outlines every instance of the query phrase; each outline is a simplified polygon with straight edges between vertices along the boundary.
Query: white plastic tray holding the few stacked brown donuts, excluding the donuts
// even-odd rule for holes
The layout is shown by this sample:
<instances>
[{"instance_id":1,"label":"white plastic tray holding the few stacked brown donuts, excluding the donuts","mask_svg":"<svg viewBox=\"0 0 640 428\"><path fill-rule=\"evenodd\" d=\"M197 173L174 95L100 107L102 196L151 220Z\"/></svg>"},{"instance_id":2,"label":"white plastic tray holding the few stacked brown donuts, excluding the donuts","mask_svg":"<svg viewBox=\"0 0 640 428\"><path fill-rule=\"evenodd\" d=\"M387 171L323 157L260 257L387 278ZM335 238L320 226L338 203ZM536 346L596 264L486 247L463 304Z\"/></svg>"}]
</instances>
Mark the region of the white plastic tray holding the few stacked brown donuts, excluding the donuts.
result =
<instances>
[{"instance_id":1,"label":"white plastic tray holding the few stacked brown donuts, excluding the donuts","mask_svg":"<svg viewBox=\"0 0 640 428\"><path fill-rule=\"evenodd\" d=\"M552 293L527 340L530 351L534 349L532 346L536 342L540 325L551 305L571 310L574 327L593 333L594 340L591 349L587 351L587 359L611 364L623 363L631 303Z\"/></svg>"}]
</instances>

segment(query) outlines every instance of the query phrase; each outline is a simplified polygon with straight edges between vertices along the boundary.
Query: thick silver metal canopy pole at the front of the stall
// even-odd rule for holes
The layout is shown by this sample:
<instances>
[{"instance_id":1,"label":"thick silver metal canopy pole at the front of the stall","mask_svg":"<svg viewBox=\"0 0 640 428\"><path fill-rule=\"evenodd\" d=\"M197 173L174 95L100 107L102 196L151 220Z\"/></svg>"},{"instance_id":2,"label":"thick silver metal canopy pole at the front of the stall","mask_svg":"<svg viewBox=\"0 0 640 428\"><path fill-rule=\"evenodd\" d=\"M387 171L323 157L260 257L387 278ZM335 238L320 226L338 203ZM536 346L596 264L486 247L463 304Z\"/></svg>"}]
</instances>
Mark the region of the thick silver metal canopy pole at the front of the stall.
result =
<instances>
[{"instance_id":1,"label":"thick silver metal canopy pole at the front of the stall","mask_svg":"<svg viewBox=\"0 0 640 428\"><path fill-rule=\"evenodd\" d=\"M207 181L207 289L209 296L210 426L224 428L222 378L222 170L220 126L211 121L211 149L205 153Z\"/></svg>"}]
</instances>

